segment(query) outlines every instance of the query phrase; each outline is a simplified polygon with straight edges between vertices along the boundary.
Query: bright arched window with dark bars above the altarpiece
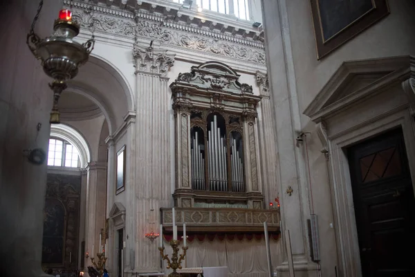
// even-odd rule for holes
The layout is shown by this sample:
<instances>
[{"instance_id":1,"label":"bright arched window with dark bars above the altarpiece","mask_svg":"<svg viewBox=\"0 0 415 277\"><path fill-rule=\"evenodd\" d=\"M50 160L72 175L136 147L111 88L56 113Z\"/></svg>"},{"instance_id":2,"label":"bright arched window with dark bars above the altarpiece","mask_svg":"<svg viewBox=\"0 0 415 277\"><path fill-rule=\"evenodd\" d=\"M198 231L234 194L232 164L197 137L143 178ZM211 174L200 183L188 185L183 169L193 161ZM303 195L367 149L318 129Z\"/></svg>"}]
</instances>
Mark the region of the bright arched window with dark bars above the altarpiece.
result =
<instances>
[{"instance_id":1,"label":"bright arched window with dark bars above the altarpiece","mask_svg":"<svg viewBox=\"0 0 415 277\"><path fill-rule=\"evenodd\" d=\"M77 148L61 139L50 138L48 150L48 166L80 167L80 156Z\"/></svg>"}]
</instances>

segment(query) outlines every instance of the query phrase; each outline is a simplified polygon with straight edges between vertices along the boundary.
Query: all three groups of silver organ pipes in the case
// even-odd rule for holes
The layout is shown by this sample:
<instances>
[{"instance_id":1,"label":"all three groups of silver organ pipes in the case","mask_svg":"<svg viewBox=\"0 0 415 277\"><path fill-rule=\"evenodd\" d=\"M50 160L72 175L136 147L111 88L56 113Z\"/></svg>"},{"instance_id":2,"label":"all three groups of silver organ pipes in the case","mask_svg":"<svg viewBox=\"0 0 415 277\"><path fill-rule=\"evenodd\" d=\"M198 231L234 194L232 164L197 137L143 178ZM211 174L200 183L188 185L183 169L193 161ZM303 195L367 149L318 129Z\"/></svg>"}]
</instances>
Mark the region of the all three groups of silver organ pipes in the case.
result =
<instances>
[{"instance_id":1,"label":"all three groups of silver organ pipes in the case","mask_svg":"<svg viewBox=\"0 0 415 277\"><path fill-rule=\"evenodd\" d=\"M238 148L238 143L241 143L239 141L241 137L239 136L238 138L238 136L233 135L234 132L231 133L230 153L228 157L225 130L221 130L221 127L218 126L218 116L212 116L212 120L208 122L208 125L210 129L208 129L208 136L206 138L206 148L202 142L205 139L202 129L196 127L194 132L192 132L192 147L190 150L192 188L194 190L207 189L205 181L205 155L207 155L209 190L228 191L229 181L231 181L231 190L233 192L245 192L242 150ZM230 165L228 166L229 161ZM228 172L230 172L230 180L228 180Z\"/></svg>"}]
</instances>

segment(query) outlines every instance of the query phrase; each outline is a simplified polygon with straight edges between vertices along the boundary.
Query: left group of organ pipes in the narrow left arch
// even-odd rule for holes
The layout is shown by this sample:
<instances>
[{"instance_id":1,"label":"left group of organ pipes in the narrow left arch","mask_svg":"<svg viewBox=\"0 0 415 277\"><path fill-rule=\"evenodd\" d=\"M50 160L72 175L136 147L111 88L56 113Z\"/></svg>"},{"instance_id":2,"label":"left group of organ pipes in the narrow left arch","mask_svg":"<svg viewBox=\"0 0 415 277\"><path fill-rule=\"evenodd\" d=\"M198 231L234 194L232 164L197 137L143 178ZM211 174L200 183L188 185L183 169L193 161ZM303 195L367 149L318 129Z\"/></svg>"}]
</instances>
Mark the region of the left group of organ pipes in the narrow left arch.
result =
<instances>
[{"instance_id":1,"label":"left group of organ pipes in the narrow left arch","mask_svg":"<svg viewBox=\"0 0 415 277\"><path fill-rule=\"evenodd\" d=\"M203 139L203 133L200 134ZM192 138L192 149L190 150L190 157L192 162L192 188L194 190L205 190L205 159L201 150L204 150L204 145L199 143L199 132L194 132Z\"/></svg>"}]
</instances>

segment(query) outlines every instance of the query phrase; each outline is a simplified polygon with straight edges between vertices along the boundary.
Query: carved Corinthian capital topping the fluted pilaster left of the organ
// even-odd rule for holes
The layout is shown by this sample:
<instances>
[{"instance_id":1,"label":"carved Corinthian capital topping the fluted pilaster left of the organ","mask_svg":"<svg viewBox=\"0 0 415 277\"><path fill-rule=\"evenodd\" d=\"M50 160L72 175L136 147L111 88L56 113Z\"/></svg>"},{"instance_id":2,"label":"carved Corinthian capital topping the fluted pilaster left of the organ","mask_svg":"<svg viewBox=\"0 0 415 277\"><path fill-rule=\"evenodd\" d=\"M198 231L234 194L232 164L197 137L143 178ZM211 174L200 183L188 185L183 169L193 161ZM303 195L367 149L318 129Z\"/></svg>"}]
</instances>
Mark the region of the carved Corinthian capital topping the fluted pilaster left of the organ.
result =
<instances>
[{"instance_id":1,"label":"carved Corinthian capital topping the fluted pilaster left of the organ","mask_svg":"<svg viewBox=\"0 0 415 277\"><path fill-rule=\"evenodd\" d=\"M138 44L133 46L136 73L144 71L165 77L170 67L174 65L174 56L166 50L156 50L153 46L143 47Z\"/></svg>"}]
</instances>

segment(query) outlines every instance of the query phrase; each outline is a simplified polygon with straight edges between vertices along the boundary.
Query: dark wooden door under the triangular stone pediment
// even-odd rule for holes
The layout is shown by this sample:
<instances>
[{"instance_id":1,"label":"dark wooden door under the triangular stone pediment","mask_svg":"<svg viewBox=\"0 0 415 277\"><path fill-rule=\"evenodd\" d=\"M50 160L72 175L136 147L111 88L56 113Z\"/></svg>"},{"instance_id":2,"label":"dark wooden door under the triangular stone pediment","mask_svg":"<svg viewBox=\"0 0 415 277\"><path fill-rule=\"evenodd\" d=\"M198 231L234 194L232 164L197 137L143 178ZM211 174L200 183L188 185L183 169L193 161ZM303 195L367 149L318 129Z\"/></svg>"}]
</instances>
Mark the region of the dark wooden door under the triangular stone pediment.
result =
<instances>
[{"instance_id":1,"label":"dark wooden door under the triangular stone pediment","mask_svg":"<svg viewBox=\"0 0 415 277\"><path fill-rule=\"evenodd\" d=\"M414 277L415 199L402 130L354 145L348 156L363 277Z\"/></svg>"}]
</instances>

